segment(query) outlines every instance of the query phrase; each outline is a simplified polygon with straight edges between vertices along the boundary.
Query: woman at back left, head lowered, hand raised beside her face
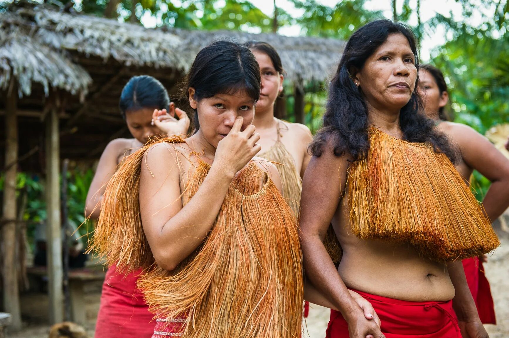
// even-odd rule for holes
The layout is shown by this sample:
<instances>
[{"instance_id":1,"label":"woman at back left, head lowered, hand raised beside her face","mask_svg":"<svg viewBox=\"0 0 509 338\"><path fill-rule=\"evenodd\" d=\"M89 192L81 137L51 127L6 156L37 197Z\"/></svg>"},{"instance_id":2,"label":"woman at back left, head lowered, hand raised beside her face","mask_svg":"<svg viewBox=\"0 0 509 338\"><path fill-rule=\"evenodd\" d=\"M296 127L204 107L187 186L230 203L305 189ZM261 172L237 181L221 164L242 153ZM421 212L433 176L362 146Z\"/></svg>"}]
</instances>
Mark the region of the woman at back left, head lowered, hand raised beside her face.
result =
<instances>
[{"instance_id":1,"label":"woman at back left, head lowered, hand raised beside her face","mask_svg":"<svg viewBox=\"0 0 509 338\"><path fill-rule=\"evenodd\" d=\"M162 84L150 76L129 80L120 97L120 111L132 139L115 139L104 149L87 195L85 214L98 218L106 184L125 156L145 145L151 137L185 135L189 118L169 102ZM167 114L166 111L169 113ZM178 115L179 120L174 118ZM153 315L136 288L140 271L120 274L112 265L104 280L95 338L144 338L154 332Z\"/></svg>"}]
</instances>

